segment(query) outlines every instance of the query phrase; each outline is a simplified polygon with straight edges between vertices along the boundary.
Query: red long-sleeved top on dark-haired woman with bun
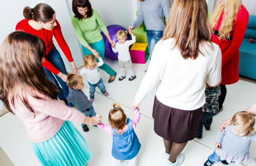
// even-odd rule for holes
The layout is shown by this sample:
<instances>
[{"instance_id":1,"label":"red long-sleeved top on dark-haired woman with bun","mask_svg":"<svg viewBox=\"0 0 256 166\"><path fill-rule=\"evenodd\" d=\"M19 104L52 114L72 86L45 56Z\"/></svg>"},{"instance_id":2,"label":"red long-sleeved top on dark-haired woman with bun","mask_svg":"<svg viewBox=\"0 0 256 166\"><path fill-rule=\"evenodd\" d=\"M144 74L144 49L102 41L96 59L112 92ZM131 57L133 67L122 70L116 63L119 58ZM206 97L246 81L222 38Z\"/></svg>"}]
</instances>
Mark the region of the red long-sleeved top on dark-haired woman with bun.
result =
<instances>
[{"instance_id":1,"label":"red long-sleeved top on dark-haired woman with bun","mask_svg":"<svg viewBox=\"0 0 256 166\"><path fill-rule=\"evenodd\" d=\"M18 22L18 24L16 25L16 30L20 30L20 31L24 31L27 33L30 33L32 35L38 36L40 37L42 40L44 40L45 44L46 44L46 54L45 56L47 56L50 51L52 50L52 48L54 47L53 41L52 41L52 36L54 35L56 41L58 42L61 50L64 52L64 54L66 55L66 57L68 58L69 62L73 62L73 58L70 52L70 49L68 47L68 44L66 43L61 29L60 29L60 24L59 22L56 20L56 24L57 26L54 26L54 28L52 30L46 30L46 29L42 29L42 30L35 30L34 28L32 28L29 24L28 24L28 20L27 19L23 19L20 22ZM44 58L45 62L42 63L42 65L47 68L48 70L50 70L51 72L53 72L54 74L59 74L59 70L56 69L46 58Z\"/></svg>"}]
</instances>

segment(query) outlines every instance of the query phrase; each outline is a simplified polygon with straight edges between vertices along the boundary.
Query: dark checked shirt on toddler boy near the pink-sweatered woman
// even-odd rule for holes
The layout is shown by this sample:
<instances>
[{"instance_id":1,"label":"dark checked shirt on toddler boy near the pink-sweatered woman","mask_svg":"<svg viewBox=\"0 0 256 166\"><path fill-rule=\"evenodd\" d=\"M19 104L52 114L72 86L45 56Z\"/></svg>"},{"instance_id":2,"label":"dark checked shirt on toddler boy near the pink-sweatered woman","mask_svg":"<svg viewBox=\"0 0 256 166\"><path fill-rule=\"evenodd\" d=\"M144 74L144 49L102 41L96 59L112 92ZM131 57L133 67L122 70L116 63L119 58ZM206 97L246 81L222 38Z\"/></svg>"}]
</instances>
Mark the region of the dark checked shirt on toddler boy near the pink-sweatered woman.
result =
<instances>
[{"instance_id":1,"label":"dark checked shirt on toddler boy near the pink-sweatered woman","mask_svg":"<svg viewBox=\"0 0 256 166\"><path fill-rule=\"evenodd\" d=\"M80 89L69 88L67 100L69 103L71 102L74 106L76 106L77 110L80 112L84 112L92 106L92 103L90 100L88 100L88 97Z\"/></svg>"}]
</instances>

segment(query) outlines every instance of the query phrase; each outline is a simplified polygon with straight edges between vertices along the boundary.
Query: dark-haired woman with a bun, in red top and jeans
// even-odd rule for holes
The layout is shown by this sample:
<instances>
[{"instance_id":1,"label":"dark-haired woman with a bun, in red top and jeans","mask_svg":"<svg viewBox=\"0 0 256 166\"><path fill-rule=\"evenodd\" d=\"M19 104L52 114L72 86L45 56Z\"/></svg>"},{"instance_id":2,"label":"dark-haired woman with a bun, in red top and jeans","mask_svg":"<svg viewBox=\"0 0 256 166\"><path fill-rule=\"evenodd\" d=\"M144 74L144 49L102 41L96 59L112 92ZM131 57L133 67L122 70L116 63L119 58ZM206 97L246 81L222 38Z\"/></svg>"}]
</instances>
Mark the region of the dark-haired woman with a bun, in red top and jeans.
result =
<instances>
[{"instance_id":1,"label":"dark-haired woman with a bun, in red top and jeans","mask_svg":"<svg viewBox=\"0 0 256 166\"><path fill-rule=\"evenodd\" d=\"M44 72L47 78L58 87L60 91L58 99L64 100L64 102L68 104L66 101L66 97L68 96L68 86L66 84L67 72L60 53L53 44L53 36L68 58L68 61L71 63L73 72L77 73L78 68L74 63L68 44L62 35L60 24L56 20L54 10L49 5L40 3L34 8L25 7L23 15L25 19L18 22L16 30L28 32L44 40L46 44L45 62L42 63ZM52 73L62 88L59 86ZM73 107L71 103L69 106Z\"/></svg>"}]
</instances>

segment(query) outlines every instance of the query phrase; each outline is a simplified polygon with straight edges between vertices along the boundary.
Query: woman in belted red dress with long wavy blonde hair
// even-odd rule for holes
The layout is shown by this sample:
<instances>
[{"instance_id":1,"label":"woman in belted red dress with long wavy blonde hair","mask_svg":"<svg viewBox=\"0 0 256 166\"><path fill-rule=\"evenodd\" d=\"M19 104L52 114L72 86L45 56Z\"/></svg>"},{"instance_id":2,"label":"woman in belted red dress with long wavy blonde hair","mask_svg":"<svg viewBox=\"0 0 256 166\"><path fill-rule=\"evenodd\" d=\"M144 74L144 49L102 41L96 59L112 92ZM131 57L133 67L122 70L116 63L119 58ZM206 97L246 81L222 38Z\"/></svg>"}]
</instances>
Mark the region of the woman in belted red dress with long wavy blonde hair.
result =
<instances>
[{"instance_id":1,"label":"woman in belted red dress with long wavy blonde hair","mask_svg":"<svg viewBox=\"0 0 256 166\"><path fill-rule=\"evenodd\" d=\"M212 42L220 46L222 52L222 82L219 97L219 110L226 97L226 85L238 82L239 47L249 20L249 14L241 0L219 0L214 10L210 27L213 30Z\"/></svg>"}]
</instances>

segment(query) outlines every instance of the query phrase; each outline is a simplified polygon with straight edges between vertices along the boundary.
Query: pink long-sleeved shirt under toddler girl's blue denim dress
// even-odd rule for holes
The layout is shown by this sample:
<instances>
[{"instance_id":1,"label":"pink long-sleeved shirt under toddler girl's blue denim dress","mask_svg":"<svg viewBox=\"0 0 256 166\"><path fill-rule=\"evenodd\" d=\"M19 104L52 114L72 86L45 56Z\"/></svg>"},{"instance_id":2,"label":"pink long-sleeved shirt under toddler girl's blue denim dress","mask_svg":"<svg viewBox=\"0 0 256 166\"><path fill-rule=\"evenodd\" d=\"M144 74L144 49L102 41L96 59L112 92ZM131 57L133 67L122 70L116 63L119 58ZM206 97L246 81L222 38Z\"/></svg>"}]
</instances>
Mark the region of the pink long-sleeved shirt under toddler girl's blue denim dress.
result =
<instances>
[{"instance_id":1,"label":"pink long-sleeved shirt under toddler girl's blue denim dress","mask_svg":"<svg viewBox=\"0 0 256 166\"><path fill-rule=\"evenodd\" d=\"M134 118L132 119L132 128L133 129L135 129L139 120L140 120L140 109L137 108L136 110L134 110ZM107 132L108 134L110 134L111 136L113 136L112 127L110 125L107 125L107 124L104 124L104 123L100 122L97 126L100 130L103 130L103 131ZM128 130L128 126L126 124L124 126L123 130L120 132L120 134L126 132L127 130Z\"/></svg>"}]
</instances>

